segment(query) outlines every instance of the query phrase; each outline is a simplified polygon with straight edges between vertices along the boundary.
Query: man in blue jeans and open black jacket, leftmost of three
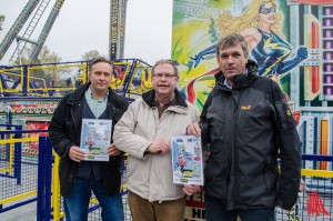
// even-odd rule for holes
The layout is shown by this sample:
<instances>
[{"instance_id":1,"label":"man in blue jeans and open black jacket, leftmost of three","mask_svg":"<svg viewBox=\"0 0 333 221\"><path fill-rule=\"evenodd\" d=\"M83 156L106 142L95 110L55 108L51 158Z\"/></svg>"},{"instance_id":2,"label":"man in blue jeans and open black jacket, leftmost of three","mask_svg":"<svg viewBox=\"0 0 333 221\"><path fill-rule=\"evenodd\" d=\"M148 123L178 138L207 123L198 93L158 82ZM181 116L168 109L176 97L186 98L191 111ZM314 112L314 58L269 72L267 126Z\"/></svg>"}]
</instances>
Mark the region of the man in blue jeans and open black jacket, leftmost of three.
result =
<instances>
[{"instance_id":1,"label":"man in blue jeans and open black jacket, leftmost of three","mask_svg":"<svg viewBox=\"0 0 333 221\"><path fill-rule=\"evenodd\" d=\"M49 127L52 148L60 157L60 190L68 209L65 215L71 221L88 219L91 190L102 208L102 220L124 219L120 195L121 152L111 140L107 150L109 161L87 161L80 148L82 119L112 120L112 133L113 125L128 108L125 99L109 87L112 71L113 64L104 58L92 60L90 82L60 101ZM112 134L105 135L112 138Z\"/></svg>"}]
</instances>

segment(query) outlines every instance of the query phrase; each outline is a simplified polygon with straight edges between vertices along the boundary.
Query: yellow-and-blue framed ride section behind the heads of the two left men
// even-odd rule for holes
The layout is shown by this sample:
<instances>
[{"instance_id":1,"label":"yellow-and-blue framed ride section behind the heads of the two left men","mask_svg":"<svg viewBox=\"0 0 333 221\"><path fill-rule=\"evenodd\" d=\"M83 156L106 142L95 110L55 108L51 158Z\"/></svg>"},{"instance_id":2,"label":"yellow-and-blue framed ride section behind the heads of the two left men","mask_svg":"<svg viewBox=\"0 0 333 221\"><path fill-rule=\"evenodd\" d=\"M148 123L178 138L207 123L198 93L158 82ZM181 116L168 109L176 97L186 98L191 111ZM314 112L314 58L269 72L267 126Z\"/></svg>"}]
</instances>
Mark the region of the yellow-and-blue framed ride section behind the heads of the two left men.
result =
<instances>
[{"instance_id":1,"label":"yellow-and-blue framed ride section behind the heads of the two left men","mask_svg":"<svg viewBox=\"0 0 333 221\"><path fill-rule=\"evenodd\" d=\"M29 97L60 99L88 81L88 62L0 67L0 101ZM132 100L152 89L151 66L140 59L113 60L110 87Z\"/></svg>"}]
</instances>

